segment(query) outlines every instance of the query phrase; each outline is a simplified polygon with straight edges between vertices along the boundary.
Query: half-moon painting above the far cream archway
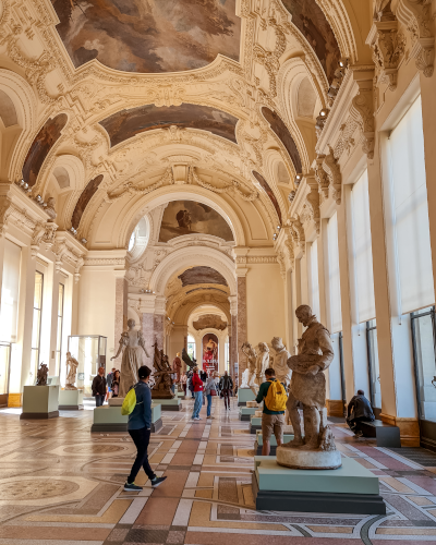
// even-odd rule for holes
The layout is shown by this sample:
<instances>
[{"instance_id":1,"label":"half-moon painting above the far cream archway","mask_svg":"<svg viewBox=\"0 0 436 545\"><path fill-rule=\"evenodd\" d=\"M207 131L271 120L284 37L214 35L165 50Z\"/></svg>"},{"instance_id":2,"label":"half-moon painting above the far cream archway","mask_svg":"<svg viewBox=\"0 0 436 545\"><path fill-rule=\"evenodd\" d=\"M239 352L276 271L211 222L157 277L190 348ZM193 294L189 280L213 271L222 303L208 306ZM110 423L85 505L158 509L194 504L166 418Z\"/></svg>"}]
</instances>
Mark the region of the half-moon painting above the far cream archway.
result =
<instances>
[{"instance_id":1,"label":"half-moon painting above the far cream archway","mask_svg":"<svg viewBox=\"0 0 436 545\"><path fill-rule=\"evenodd\" d=\"M194 201L172 201L164 211L159 242L168 242L183 234L211 234L232 241L227 221L210 206Z\"/></svg>"}]
</instances>

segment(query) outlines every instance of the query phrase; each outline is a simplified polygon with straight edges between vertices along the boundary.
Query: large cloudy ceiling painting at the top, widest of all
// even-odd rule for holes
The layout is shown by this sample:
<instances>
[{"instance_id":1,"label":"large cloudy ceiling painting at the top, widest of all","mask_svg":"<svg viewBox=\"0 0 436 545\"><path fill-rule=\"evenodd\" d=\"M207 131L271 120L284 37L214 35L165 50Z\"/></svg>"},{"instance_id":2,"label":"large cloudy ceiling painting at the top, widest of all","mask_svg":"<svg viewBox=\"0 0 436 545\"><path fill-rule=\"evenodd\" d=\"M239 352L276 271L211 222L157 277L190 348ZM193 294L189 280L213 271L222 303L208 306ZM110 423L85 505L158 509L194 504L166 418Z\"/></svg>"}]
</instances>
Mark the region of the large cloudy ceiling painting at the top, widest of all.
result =
<instances>
[{"instance_id":1,"label":"large cloudy ceiling painting at the top, widest of all","mask_svg":"<svg viewBox=\"0 0 436 545\"><path fill-rule=\"evenodd\" d=\"M74 66L98 59L125 72L180 72L218 53L239 60L235 0L51 0Z\"/></svg>"}]
</instances>

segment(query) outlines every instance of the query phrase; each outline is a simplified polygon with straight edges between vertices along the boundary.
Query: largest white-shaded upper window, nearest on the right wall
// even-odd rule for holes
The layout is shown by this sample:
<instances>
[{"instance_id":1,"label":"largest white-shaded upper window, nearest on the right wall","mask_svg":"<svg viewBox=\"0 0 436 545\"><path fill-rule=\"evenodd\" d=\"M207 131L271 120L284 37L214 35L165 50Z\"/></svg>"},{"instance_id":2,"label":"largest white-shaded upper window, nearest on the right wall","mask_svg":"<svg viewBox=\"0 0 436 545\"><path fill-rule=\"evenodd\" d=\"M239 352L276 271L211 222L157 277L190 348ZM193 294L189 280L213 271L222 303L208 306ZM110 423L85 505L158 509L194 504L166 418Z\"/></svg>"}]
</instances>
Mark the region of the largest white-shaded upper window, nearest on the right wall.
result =
<instances>
[{"instance_id":1,"label":"largest white-shaded upper window, nearest on the right wall","mask_svg":"<svg viewBox=\"0 0 436 545\"><path fill-rule=\"evenodd\" d=\"M400 313L435 302L421 97L388 140L392 242Z\"/></svg>"}]
</instances>

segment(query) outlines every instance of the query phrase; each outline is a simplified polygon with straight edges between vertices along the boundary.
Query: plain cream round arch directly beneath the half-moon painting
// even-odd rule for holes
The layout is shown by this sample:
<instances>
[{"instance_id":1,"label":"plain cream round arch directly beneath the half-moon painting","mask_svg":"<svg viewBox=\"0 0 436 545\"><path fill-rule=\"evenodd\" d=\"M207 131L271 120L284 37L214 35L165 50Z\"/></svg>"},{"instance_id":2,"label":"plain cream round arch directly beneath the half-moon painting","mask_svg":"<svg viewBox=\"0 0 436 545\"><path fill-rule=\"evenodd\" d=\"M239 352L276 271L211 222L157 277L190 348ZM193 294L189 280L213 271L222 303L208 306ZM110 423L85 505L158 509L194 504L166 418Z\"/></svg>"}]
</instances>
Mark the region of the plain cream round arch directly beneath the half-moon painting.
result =
<instances>
[{"instance_id":1,"label":"plain cream round arch directly beneath the half-moon painting","mask_svg":"<svg viewBox=\"0 0 436 545\"><path fill-rule=\"evenodd\" d=\"M182 268L211 267L220 272L227 280L230 294L237 293L234 262L218 250L207 246L187 246L177 250L164 258L153 272L149 286L152 291L164 295L169 279Z\"/></svg>"}]
</instances>

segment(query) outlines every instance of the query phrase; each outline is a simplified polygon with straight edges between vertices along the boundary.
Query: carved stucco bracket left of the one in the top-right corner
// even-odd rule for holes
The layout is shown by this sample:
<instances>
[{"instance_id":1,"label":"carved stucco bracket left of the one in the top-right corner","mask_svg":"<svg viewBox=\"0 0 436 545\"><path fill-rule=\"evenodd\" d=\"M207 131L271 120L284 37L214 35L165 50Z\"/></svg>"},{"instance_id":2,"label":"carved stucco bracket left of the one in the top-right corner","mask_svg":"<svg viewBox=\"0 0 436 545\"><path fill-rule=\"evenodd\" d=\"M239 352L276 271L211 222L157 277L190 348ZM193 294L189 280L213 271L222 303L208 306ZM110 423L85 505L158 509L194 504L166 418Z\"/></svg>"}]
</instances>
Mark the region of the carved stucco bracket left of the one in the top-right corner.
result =
<instances>
[{"instance_id":1,"label":"carved stucco bracket left of the one in the top-right corner","mask_svg":"<svg viewBox=\"0 0 436 545\"><path fill-rule=\"evenodd\" d=\"M366 44L373 49L377 83L386 83L390 90L397 88L405 43L405 36L398 31L398 21L374 21Z\"/></svg>"}]
</instances>

